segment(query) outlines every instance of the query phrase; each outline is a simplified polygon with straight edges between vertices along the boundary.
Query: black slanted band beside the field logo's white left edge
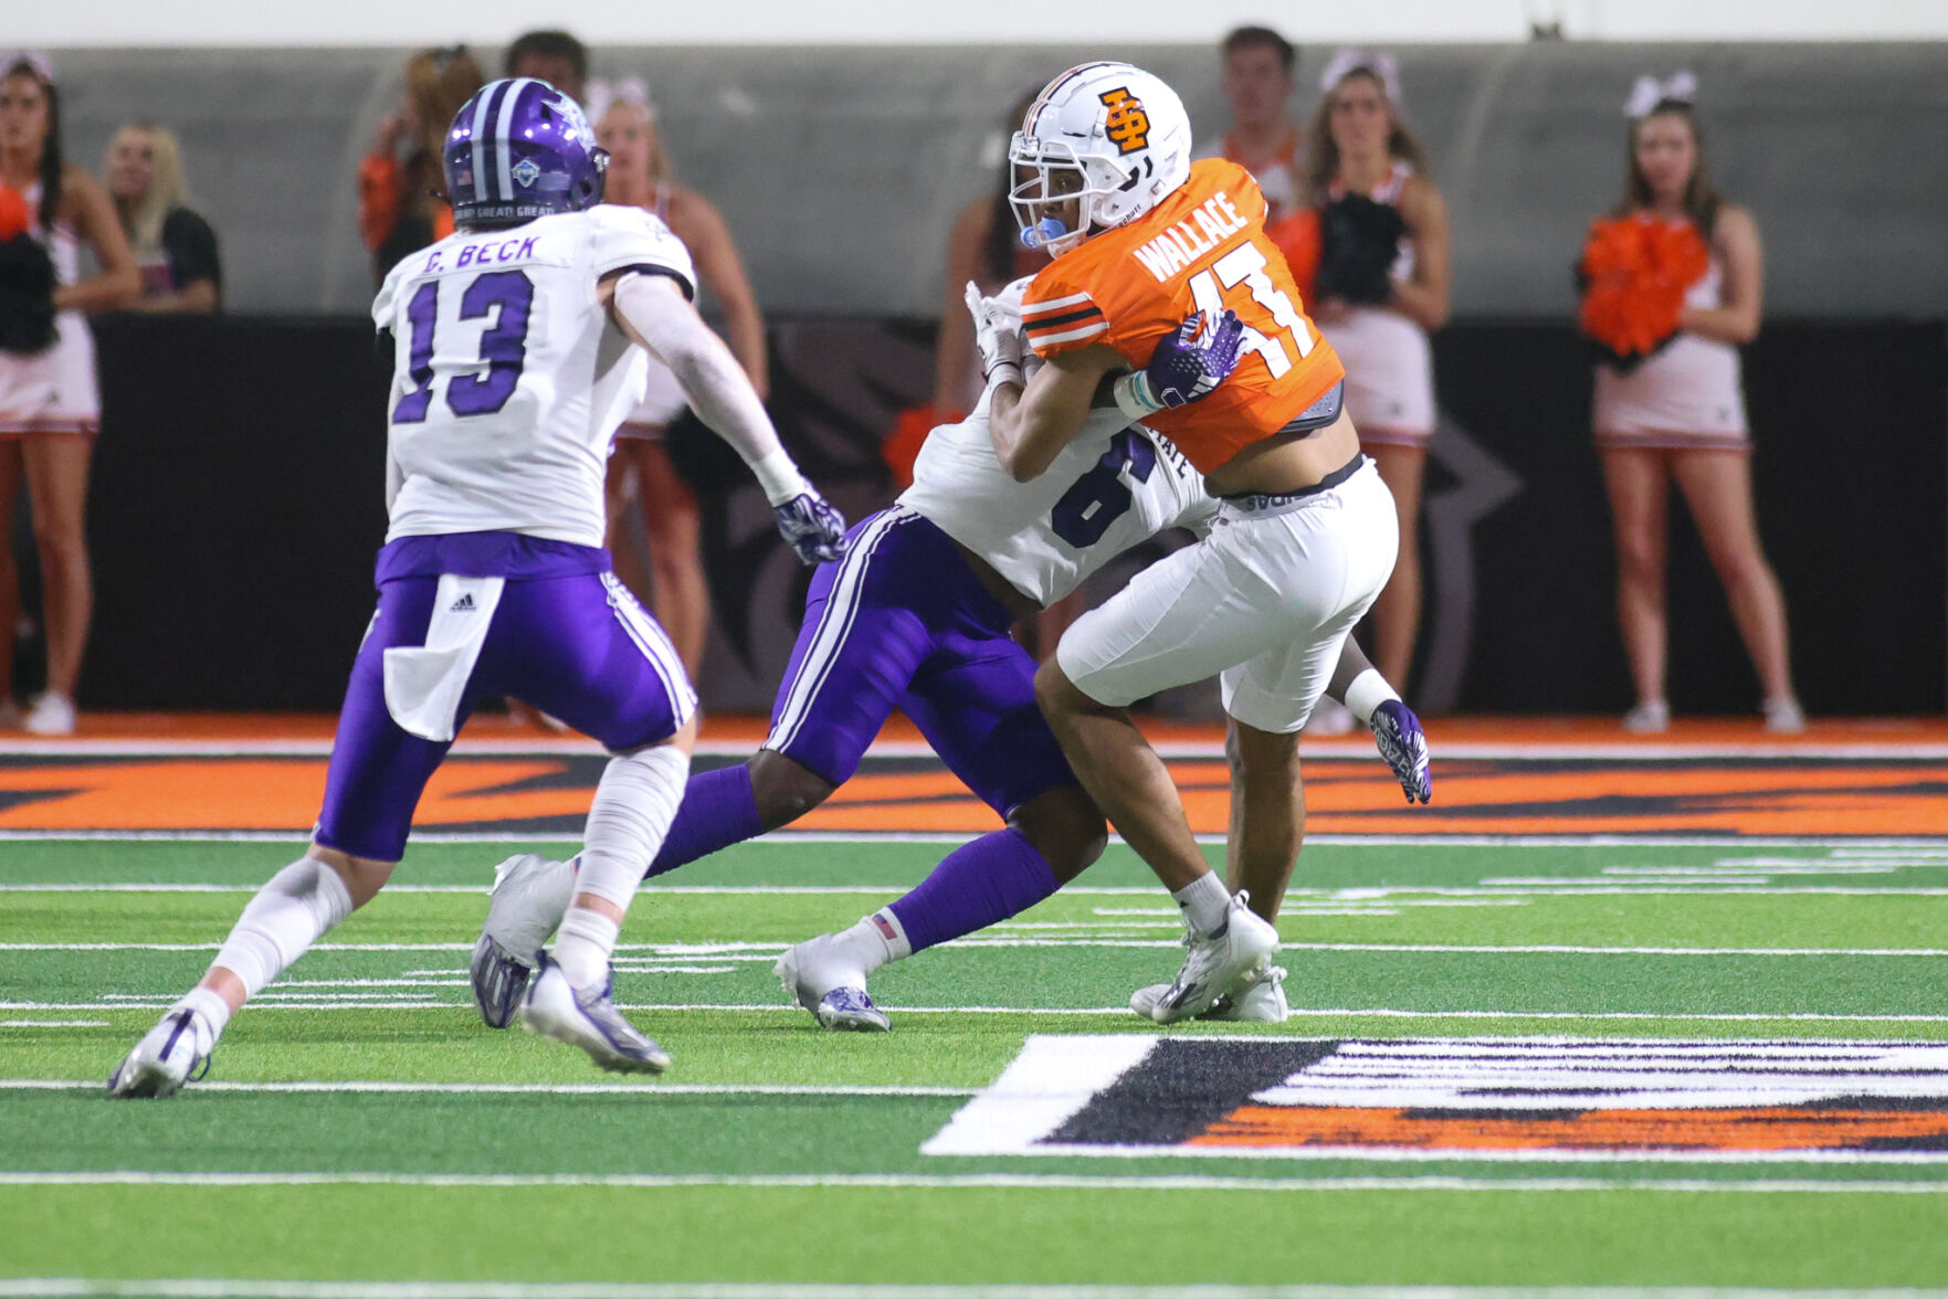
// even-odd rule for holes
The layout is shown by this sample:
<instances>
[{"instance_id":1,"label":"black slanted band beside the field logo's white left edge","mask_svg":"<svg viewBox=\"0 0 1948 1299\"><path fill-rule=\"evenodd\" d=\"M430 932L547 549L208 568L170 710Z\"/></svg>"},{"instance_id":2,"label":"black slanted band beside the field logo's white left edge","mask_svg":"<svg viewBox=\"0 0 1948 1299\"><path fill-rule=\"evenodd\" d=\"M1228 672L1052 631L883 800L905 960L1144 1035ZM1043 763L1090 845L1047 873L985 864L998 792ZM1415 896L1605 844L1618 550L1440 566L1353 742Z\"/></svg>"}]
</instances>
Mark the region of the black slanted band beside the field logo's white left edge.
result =
<instances>
[{"instance_id":1,"label":"black slanted band beside the field logo's white left edge","mask_svg":"<svg viewBox=\"0 0 1948 1299\"><path fill-rule=\"evenodd\" d=\"M1262 1087L1319 1063L1338 1042L1165 1038L1048 1137L1060 1145L1180 1145Z\"/></svg>"}]
</instances>

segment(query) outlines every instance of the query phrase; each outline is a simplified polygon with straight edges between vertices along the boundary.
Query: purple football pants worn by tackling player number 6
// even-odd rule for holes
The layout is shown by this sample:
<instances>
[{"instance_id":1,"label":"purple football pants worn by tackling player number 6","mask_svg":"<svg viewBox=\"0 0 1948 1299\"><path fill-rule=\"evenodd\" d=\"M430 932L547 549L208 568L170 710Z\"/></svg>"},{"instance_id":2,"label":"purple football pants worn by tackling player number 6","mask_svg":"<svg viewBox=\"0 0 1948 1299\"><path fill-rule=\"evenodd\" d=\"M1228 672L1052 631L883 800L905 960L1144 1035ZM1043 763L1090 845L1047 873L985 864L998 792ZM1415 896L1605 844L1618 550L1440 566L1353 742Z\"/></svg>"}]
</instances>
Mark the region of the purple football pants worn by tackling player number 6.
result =
<instances>
[{"instance_id":1,"label":"purple football pants worn by tackling player number 6","mask_svg":"<svg viewBox=\"0 0 1948 1299\"><path fill-rule=\"evenodd\" d=\"M1075 785L1011 623L945 532L906 506L880 510L812 576L764 748L843 785L898 707L1003 818Z\"/></svg>"}]
</instances>

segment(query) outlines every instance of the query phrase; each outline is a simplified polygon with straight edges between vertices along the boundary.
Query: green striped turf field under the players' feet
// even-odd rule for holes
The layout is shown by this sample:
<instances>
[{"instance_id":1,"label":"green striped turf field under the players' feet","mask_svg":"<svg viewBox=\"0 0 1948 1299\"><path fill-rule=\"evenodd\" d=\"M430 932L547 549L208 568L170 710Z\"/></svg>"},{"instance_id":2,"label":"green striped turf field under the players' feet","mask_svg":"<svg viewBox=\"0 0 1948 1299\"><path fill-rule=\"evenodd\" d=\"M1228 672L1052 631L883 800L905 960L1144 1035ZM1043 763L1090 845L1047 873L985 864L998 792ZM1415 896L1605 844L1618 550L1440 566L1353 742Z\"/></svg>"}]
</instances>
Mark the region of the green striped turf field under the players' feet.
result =
<instances>
[{"instance_id":1,"label":"green striped turf field under the players' feet","mask_svg":"<svg viewBox=\"0 0 1948 1299\"><path fill-rule=\"evenodd\" d=\"M943 847L746 845L658 880L629 917L618 999L676 1058L651 1081L475 1019L466 952L505 851L415 845L405 888L242 1013L205 1085L111 1104L99 1079L294 847L0 843L0 1295L90 1289L23 1278L210 1295L253 1289L218 1285L236 1280L1948 1285L1948 1139L921 1149L1050 1038L1204 1061L1110 1114L1138 1128L1145 1104L1223 1087L1225 1061L1307 1040L1366 1044L1336 1059L1432 1042L1436 1075L1469 1052L1636 1042L1703 1052L1683 1067L1706 1083L1726 1052L1779 1054L1782 1073L1880 1054L1899 1100L1854 1108L1921 1122L1948 1110L1940 1052L1901 1065L1888 1044L1948 1042L1948 849L1321 843L1280 921L1292 1022L1163 1030L1122 1005L1175 972L1179 923L1114 847L1017 923L880 972L894 1032L855 1036L785 1007L771 960ZM177 1285L144 1289L160 1278Z\"/></svg>"}]
</instances>

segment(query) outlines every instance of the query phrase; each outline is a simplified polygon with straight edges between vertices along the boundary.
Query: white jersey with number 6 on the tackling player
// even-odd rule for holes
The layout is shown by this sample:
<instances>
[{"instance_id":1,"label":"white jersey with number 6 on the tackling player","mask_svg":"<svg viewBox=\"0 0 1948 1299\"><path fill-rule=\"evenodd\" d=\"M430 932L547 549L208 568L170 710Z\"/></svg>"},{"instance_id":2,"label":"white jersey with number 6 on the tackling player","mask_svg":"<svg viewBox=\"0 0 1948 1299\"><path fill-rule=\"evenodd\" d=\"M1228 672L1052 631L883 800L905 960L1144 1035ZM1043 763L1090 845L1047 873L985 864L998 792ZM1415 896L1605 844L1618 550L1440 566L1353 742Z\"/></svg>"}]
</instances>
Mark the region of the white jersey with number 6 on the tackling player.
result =
<instances>
[{"instance_id":1,"label":"white jersey with number 6 on the tackling player","mask_svg":"<svg viewBox=\"0 0 1948 1299\"><path fill-rule=\"evenodd\" d=\"M1198 528L1218 502L1177 446L1108 407L1091 411L1046 473L1017 483L988 440L988 397L927 434L900 504L1050 606L1165 528Z\"/></svg>"}]
</instances>

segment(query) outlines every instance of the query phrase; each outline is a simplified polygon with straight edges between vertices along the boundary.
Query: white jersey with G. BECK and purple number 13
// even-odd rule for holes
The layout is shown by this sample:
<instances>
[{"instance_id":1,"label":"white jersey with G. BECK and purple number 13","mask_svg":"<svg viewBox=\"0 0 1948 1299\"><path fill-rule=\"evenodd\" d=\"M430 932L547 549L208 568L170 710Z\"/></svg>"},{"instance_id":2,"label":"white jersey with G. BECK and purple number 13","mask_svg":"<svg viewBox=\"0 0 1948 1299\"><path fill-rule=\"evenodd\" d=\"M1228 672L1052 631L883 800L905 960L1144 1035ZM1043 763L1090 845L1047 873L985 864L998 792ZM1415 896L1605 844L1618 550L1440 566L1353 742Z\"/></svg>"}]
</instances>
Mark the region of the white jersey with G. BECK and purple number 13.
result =
<instances>
[{"instance_id":1,"label":"white jersey with G. BECK and purple number 13","mask_svg":"<svg viewBox=\"0 0 1948 1299\"><path fill-rule=\"evenodd\" d=\"M649 356L596 306L641 267L695 296L690 253L641 208L456 232L401 261L372 304L393 333L386 539L522 532L602 545L616 425Z\"/></svg>"}]
</instances>

